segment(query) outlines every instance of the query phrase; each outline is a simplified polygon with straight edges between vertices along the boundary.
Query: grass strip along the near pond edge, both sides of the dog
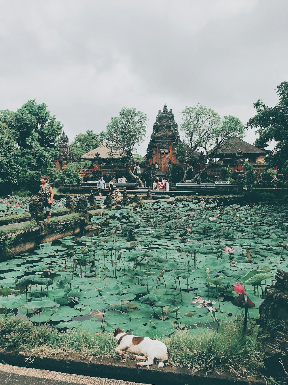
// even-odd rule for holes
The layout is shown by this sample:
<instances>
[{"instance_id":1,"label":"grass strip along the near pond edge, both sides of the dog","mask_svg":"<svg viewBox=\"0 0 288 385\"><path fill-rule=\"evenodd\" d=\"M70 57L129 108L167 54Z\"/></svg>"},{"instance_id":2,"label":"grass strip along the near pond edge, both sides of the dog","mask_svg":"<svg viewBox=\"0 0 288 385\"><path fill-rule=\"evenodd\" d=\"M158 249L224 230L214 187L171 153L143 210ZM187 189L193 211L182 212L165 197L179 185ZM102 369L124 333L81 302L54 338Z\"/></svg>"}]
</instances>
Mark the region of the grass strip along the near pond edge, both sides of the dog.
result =
<instances>
[{"instance_id":1,"label":"grass strip along the near pond edge, both sides of the dog","mask_svg":"<svg viewBox=\"0 0 288 385\"><path fill-rule=\"evenodd\" d=\"M172 367L188 367L223 373L244 375L257 373L263 365L263 355L257 345L256 331L243 334L242 323L225 322L216 330L199 328L179 330L164 337ZM24 349L38 357L56 353L116 356L116 340L109 333L93 334L87 330L67 329L62 332L53 326L34 326L20 318L0 318L0 346Z\"/></svg>"}]
</instances>

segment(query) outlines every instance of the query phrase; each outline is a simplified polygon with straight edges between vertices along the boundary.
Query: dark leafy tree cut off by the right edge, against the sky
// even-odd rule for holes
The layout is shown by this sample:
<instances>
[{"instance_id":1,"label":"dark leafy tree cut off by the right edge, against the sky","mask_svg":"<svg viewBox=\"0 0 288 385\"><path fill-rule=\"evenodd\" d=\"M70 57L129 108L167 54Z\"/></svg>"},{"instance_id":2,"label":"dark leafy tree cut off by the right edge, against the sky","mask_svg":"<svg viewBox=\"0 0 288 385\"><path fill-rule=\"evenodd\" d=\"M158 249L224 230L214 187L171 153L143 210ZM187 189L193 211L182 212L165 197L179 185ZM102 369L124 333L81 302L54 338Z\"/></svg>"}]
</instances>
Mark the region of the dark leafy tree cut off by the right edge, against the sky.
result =
<instances>
[{"instance_id":1,"label":"dark leafy tree cut off by the right edge, against the sky","mask_svg":"<svg viewBox=\"0 0 288 385\"><path fill-rule=\"evenodd\" d=\"M279 103L268 107L262 99L253 104L257 114L249 119L247 127L257 129L260 134L257 146L265 146L270 140L277 143L275 149L266 157L270 166L277 166L279 171L288 172L288 82L284 81L276 87Z\"/></svg>"}]
</instances>

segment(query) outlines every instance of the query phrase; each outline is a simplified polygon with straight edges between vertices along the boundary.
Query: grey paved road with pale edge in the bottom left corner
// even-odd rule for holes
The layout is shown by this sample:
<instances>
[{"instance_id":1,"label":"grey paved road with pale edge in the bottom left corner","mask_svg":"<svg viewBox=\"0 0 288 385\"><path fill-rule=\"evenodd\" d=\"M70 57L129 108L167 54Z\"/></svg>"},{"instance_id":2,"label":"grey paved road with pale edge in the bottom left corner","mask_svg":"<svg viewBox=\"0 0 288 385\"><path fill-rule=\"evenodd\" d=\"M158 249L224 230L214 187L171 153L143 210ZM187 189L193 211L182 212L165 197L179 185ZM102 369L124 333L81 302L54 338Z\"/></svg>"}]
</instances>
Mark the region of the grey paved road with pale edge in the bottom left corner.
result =
<instances>
[{"instance_id":1,"label":"grey paved road with pale edge in the bottom left corner","mask_svg":"<svg viewBox=\"0 0 288 385\"><path fill-rule=\"evenodd\" d=\"M1 385L149 385L0 364Z\"/></svg>"}]
</instances>

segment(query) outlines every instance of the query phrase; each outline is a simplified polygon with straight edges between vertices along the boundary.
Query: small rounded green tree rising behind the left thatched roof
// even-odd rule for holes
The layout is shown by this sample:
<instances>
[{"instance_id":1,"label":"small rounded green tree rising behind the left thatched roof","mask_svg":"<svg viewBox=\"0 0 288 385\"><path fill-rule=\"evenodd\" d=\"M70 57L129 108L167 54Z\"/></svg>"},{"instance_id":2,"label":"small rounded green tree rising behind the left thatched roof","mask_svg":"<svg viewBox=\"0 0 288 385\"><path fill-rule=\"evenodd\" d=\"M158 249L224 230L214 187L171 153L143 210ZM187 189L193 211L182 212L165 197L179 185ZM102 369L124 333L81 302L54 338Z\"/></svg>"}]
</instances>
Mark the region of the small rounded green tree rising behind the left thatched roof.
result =
<instances>
[{"instance_id":1,"label":"small rounded green tree rising behind the left thatched roof","mask_svg":"<svg viewBox=\"0 0 288 385\"><path fill-rule=\"evenodd\" d=\"M98 134L92 130L87 130L86 134L78 134L71 143L71 151L75 161L79 161L82 155L92 151L102 144Z\"/></svg>"}]
</instances>

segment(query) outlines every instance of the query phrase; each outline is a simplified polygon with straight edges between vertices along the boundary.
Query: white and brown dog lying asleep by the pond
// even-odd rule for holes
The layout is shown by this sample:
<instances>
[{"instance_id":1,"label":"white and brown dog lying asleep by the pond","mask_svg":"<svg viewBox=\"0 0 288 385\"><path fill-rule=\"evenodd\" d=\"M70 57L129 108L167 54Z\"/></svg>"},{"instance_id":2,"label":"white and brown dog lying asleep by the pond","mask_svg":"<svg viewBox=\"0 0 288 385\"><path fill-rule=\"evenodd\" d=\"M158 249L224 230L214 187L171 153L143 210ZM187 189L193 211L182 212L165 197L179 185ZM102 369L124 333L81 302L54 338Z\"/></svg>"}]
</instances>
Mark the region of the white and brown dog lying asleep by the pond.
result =
<instances>
[{"instance_id":1,"label":"white and brown dog lying asleep by the pond","mask_svg":"<svg viewBox=\"0 0 288 385\"><path fill-rule=\"evenodd\" d=\"M142 354L141 356L132 354L133 360L145 360L145 362L138 362L139 366L153 365L154 358L161 361L159 367L164 366L164 362L170 357L167 353L167 346L154 338L149 337L135 337L131 334L125 333L120 328L116 328L114 331L114 337L119 346L115 349L115 352L119 354L120 358L125 357L125 351L129 353Z\"/></svg>"}]
</instances>

